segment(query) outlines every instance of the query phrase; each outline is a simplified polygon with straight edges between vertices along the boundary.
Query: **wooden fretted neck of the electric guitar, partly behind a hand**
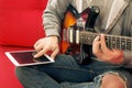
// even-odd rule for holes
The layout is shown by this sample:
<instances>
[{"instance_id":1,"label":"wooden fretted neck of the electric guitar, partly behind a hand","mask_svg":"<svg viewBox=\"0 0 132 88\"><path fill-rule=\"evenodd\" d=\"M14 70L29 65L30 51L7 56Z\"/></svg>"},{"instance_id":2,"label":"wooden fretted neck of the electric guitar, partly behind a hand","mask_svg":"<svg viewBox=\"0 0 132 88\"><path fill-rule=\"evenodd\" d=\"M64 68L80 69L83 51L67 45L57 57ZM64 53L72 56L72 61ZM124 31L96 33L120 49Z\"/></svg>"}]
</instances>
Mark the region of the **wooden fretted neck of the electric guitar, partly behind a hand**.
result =
<instances>
[{"instance_id":1,"label":"wooden fretted neck of the electric guitar, partly behind a hand","mask_svg":"<svg viewBox=\"0 0 132 88\"><path fill-rule=\"evenodd\" d=\"M91 33L91 32L80 32L80 43L92 45L92 42L96 36L98 36L98 33ZM109 48L119 48L123 51L132 51L132 37L128 36L117 36L117 35L106 35L106 44Z\"/></svg>"}]
</instances>

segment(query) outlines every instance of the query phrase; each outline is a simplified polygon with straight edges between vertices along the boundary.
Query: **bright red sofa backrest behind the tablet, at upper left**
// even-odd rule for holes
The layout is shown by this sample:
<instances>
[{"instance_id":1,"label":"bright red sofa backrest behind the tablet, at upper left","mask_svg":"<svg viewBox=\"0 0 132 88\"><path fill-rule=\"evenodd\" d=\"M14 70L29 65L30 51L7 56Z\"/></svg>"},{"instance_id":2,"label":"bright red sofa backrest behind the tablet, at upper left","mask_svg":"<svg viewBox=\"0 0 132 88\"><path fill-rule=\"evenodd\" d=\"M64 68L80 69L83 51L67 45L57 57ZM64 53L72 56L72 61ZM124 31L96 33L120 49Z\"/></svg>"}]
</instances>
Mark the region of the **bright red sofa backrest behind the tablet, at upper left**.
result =
<instances>
[{"instance_id":1,"label":"bright red sofa backrest behind the tablet, at upper left","mask_svg":"<svg viewBox=\"0 0 132 88\"><path fill-rule=\"evenodd\" d=\"M33 46L45 36L42 13L47 0L1 0L0 45Z\"/></svg>"}]
</instances>

